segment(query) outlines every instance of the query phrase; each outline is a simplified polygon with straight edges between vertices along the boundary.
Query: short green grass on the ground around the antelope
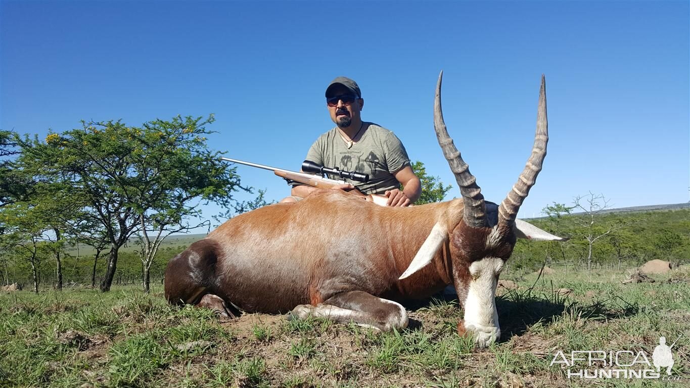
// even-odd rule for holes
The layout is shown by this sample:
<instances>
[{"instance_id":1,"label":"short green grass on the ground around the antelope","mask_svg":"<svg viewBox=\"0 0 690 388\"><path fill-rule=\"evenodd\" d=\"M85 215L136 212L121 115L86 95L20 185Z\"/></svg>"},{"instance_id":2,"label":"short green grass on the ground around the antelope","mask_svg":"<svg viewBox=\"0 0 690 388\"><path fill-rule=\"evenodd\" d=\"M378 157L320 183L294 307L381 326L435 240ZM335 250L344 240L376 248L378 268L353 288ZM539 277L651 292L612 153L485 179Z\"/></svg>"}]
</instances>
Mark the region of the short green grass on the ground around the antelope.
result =
<instances>
[{"instance_id":1,"label":"short green grass on the ground around the antelope","mask_svg":"<svg viewBox=\"0 0 690 388\"><path fill-rule=\"evenodd\" d=\"M322 318L171 307L158 286L102 294L0 295L0 387L684 387L690 385L690 271L622 285L625 274L513 278L497 298L502 336L457 336L462 309L411 305L410 328L379 333ZM504 278L511 278L506 274ZM673 278L676 281L668 281ZM570 294L558 289L569 288ZM680 381L568 379L555 351L673 348Z\"/></svg>"}]
</instances>

